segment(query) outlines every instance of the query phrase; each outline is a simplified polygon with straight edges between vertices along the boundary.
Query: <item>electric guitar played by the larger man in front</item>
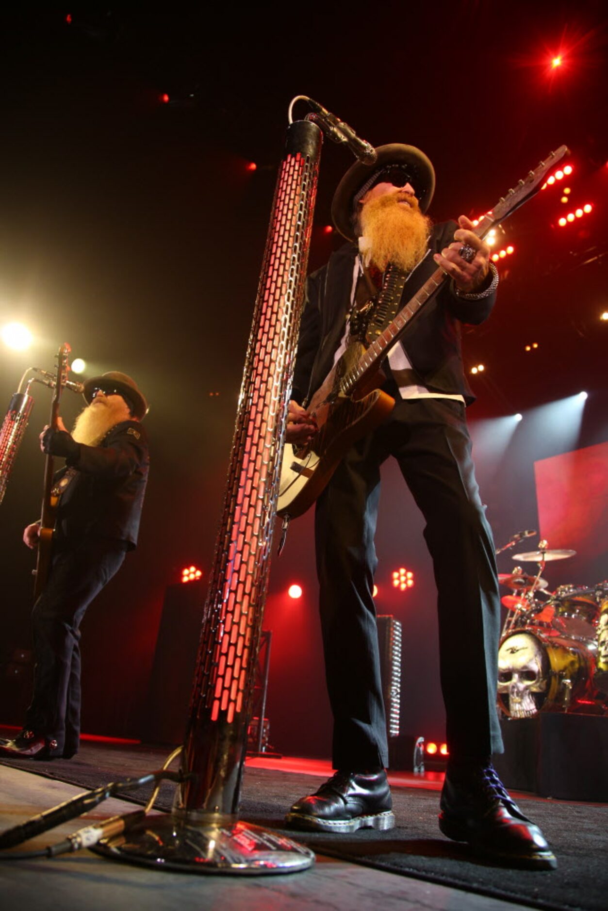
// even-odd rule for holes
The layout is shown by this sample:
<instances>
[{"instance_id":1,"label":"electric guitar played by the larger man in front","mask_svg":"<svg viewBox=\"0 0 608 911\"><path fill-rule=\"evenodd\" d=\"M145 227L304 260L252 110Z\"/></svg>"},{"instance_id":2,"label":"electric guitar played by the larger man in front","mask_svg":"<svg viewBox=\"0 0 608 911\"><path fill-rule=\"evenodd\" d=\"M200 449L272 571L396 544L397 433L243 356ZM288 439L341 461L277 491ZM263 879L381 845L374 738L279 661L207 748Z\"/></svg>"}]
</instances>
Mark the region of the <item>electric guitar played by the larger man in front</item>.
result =
<instances>
[{"instance_id":1,"label":"electric guitar played by the larger man in front","mask_svg":"<svg viewBox=\"0 0 608 911\"><path fill-rule=\"evenodd\" d=\"M566 146L551 152L538 168L500 197L474 229L477 237L484 238L493 225L509 218L531 199L547 173L569 154ZM334 364L307 407L317 425L314 436L306 445L286 443L284 446L277 503L279 516L295 518L312 506L348 448L390 414L395 401L377 388L385 379L380 365L447 278L442 269L435 271L368 347L353 342Z\"/></svg>"}]
</instances>

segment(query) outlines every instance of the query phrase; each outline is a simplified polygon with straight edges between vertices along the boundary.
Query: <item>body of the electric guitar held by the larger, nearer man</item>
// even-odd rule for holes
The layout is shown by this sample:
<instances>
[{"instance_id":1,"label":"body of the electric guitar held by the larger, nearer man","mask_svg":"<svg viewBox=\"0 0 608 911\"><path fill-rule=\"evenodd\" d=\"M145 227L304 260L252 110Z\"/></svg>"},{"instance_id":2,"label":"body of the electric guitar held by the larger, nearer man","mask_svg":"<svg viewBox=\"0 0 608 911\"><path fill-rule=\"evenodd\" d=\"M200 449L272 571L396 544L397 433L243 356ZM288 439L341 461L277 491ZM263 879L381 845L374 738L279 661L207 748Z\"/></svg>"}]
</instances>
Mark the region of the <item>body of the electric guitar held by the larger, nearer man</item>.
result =
<instances>
[{"instance_id":1,"label":"body of the electric guitar held by the larger, nearer man","mask_svg":"<svg viewBox=\"0 0 608 911\"><path fill-rule=\"evenodd\" d=\"M340 392L341 377L362 352L365 352L363 345L350 345L314 394L307 410L314 415L318 429L310 443L285 444L277 504L279 516L302 516L327 485L348 449L393 410L395 400L381 389L368 394ZM378 373L377 379L382 382L382 374ZM368 382L366 388L370 385Z\"/></svg>"}]
</instances>

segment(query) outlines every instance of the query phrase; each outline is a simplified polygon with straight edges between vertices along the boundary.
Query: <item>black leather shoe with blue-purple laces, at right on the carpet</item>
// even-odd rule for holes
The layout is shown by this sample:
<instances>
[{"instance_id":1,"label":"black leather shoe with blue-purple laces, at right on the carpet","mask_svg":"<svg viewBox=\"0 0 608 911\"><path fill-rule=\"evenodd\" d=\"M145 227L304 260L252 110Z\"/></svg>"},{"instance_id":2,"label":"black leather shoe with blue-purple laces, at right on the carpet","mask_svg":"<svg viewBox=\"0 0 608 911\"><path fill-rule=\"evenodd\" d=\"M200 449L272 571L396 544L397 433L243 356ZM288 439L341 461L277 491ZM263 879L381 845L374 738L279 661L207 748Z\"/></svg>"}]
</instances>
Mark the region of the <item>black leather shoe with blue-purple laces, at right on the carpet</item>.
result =
<instances>
[{"instance_id":1,"label":"black leather shoe with blue-purple laces, at right on the carpet","mask_svg":"<svg viewBox=\"0 0 608 911\"><path fill-rule=\"evenodd\" d=\"M491 763L450 775L441 792L439 828L476 854L512 867L554 870L555 856L538 825L524 816Z\"/></svg>"}]
</instances>

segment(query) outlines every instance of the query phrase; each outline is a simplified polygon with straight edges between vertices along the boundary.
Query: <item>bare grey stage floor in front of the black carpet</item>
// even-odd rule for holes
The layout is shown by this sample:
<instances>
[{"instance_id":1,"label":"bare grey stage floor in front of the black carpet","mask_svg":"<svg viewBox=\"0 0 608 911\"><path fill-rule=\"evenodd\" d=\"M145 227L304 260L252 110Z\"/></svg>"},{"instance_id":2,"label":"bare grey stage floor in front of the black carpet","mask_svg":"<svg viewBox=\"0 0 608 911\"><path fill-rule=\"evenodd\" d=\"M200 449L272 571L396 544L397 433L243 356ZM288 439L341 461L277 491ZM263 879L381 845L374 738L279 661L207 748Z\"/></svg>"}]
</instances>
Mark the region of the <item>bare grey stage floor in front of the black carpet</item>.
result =
<instances>
[{"instance_id":1,"label":"bare grey stage floor in front of the black carpet","mask_svg":"<svg viewBox=\"0 0 608 911\"><path fill-rule=\"evenodd\" d=\"M259 762L259 761L254 761ZM0 826L4 830L25 822L32 815L61 804L81 793L81 788L0 767ZM110 799L84 819L89 822L109 815L129 813L133 804ZM63 824L15 850L56 844L80 827L82 821ZM513 911L525 908L488 896L386 873L324 855L303 873L292 875L226 876L188 875L116 864L90 851L60 855L47 860L4 861L0 866L2 906L6 911L36 908L36 911L107 911L108 907L150 911L301 911L306 908L368 911L429 911L467 908L468 911Z\"/></svg>"}]
</instances>

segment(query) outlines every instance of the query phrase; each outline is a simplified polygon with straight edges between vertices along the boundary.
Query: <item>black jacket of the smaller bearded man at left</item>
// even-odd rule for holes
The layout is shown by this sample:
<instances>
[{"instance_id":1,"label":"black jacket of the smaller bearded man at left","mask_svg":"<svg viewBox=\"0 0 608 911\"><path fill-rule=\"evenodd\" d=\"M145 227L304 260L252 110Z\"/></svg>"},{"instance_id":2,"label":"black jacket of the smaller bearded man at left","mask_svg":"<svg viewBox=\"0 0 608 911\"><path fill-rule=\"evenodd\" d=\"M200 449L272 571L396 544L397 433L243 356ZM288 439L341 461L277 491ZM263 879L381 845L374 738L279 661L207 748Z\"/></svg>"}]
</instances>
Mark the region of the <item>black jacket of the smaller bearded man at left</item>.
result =
<instances>
[{"instance_id":1,"label":"black jacket of the smaller bearded man at left","mask_svg":"<svg viewBox=\"0 0 608 911\"><path fill-rule=\"evenodd\" d=\"M57 543L95 536L135 548L149 469L148 439L139 421L112 427L98 446L80 444L77 459L68 459L67 467L77 474L59 498Z\"/></svg>"}]
</instances>

